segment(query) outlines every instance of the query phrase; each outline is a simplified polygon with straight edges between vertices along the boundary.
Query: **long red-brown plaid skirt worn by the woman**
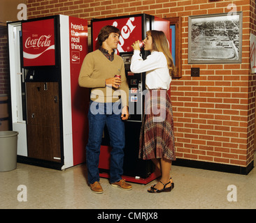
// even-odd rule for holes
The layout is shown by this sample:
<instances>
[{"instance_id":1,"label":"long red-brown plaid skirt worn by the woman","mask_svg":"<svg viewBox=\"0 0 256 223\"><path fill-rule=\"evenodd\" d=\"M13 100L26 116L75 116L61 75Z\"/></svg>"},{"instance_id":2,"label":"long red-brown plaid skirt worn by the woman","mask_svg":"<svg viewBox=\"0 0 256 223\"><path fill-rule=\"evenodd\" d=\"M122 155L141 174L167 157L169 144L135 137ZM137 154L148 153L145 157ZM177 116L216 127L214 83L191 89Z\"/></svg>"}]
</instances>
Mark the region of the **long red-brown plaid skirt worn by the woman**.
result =
<instances>
[{"instance_id":1,"label":"long red-brown plaid skirt worn by the woman","mask_svg":"<svg viewBox=\"0 0 256 223\"><path fill-rule=\"evenodd\" d=\"M138 157L143 160L166 158L176 160L173 109L166 90L148 90L141 125Z\"/></svg>"}]
</instances>

